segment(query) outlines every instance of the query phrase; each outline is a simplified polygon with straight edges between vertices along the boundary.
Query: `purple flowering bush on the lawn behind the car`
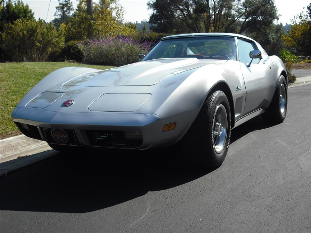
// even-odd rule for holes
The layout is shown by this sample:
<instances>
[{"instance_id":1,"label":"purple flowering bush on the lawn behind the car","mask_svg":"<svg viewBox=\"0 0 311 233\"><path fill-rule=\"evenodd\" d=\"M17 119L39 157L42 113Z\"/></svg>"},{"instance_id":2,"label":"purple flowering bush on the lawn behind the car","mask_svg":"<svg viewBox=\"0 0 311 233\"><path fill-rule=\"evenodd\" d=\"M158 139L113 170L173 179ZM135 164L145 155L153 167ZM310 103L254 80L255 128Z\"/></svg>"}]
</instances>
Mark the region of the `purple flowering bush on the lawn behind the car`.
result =
<instances>
[{"instance_id":1,"label":"purple flowering bush on the lawn behind the car","mask_svg":"<svg viewBox=\"0 0 311 233\"><path fill-rule=\"evenodd\" d=\"M152 48L153 43L118 36L88 39L77 45L83 54L84 62L88 64L123 66L138 62L139 54L146 54Z\"/></svg>"}]
</instances>

